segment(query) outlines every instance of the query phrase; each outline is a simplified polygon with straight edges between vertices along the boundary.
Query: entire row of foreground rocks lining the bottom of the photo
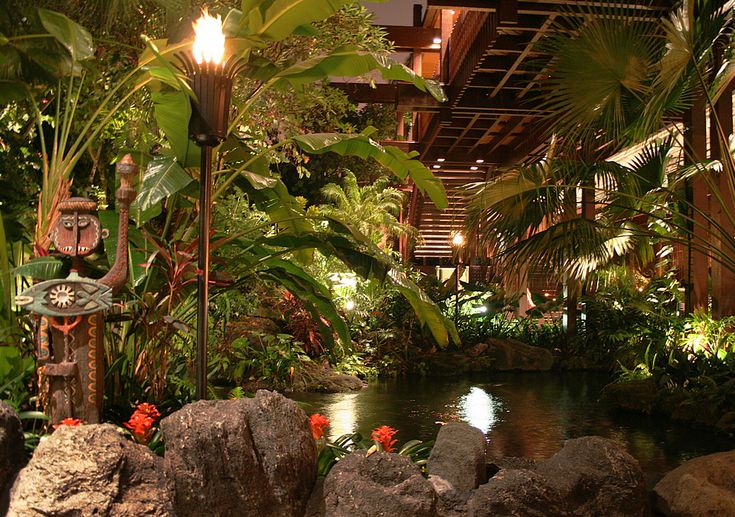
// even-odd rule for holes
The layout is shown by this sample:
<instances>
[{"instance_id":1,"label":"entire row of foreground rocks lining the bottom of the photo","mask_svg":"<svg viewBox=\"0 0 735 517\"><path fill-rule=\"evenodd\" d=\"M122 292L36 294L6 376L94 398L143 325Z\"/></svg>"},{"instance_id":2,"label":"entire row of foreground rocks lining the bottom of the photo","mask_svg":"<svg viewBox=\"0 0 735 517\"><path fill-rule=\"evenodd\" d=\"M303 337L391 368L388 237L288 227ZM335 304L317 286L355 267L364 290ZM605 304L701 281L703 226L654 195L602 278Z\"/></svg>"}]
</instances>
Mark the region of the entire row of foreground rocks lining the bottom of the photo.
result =
<instances>
[{"instance_id":1,"label":"entire row of foreground rocks lining the bottom of the photo","mask_svg":"<svg viewBox=\"0 0 735 517\"><path fill-rule=\"evenodd\" d=\"M407 457L360 451L317 479L306 414L259 391L165 418L163 458L112 425L86 425L44 438L21 469L11 453L23 449L20 421L0 409L0 500L10 516L735 515L735 451L688 461L649 492L613 440L568 440L543 461L488 458L484 434L454 422L438 433L428 478Z\"/></svg>"}]
</instances>

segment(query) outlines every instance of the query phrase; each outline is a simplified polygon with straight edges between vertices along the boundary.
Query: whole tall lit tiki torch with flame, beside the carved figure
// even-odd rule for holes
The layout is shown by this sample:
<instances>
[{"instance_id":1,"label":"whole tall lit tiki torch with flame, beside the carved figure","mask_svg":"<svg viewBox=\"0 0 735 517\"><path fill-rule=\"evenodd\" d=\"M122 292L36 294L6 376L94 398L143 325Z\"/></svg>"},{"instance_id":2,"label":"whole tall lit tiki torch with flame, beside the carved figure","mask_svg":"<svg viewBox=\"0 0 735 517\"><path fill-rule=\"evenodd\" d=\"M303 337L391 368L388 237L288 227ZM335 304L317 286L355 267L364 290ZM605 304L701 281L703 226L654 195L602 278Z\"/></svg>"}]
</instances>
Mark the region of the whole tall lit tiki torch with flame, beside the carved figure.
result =
<instances>
[{"instance_id":1,"label":"whole tall lit tiki torch with flame, beside the carved figure","mask_svg":"<svg viewBox=\"0 0 735 517\"><path fill-rule=\"evenodd\" d=\"M207 397L212 148L227 136L232 78L236 72L237 60L234 57L224 60L225 35L219 16L210 16L205 9L202 16L194 22L194 34L191 55L179 54L178 58L196 99L192 100L189 138L201 147L196 352L196 398L201 400Z\"/></svg>"}]
</instances>

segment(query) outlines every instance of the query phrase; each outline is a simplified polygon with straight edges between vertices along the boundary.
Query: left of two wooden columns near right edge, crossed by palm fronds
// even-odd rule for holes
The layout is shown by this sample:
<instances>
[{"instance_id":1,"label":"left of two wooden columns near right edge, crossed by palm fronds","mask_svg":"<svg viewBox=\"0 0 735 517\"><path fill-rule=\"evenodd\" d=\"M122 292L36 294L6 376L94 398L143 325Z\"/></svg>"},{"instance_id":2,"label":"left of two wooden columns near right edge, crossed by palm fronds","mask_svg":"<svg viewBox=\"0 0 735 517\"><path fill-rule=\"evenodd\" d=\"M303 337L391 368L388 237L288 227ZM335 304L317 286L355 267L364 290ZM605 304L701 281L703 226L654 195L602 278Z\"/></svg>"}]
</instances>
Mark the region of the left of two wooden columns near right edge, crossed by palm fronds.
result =
<instances>
[{"instance_id":1,"label":"left of two wooden columns near right edge, crossed by palm fronds","mask_svg":"<svg viewBox=\"0 0 735 517\"><path fill-rule=\"evenodd\" d=\"M707 117L702 97L697 97L685 116L687 126L684 134L686 160L696 162L707 157ZM709 189L701 177L695 177L687 186L687 200L697 210L690 209L693 222L689 224L687 240L686 312L708 306L709 263L705 253L699 251L708 242L706 220L698 212L709 210Z\"/></svg>"}]
</instances>

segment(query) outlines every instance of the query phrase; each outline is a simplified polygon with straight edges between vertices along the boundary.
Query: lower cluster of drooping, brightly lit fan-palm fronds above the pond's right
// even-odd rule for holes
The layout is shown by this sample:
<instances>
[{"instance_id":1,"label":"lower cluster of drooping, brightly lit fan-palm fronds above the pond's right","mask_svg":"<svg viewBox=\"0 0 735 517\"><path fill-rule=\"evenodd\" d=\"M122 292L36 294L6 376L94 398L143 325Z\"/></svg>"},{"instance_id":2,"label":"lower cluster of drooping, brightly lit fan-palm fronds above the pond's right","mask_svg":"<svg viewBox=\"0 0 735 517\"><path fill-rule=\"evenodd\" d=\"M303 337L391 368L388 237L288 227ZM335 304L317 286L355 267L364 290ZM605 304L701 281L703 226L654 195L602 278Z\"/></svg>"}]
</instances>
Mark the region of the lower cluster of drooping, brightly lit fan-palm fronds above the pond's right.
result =
<instances>
[{"instance_id":1,"label":"lower cluster of drooping, brightly lit fan-palm fronds above the pond's right","mask_svg":"<svg viewBox=\"0 0 735 517\"><path fill-rule=\"evenodd\" d=\"M470 186L467 226L505 269L543 264L559 278L585 280L610 264L649 269L652 239L665 234L657 218L671 210L660 192L672 150L665 139L643 149L630 166L585 164L549 157ZM594 183L592 183L594 182ZM579 217L579 185L601 208ZM648 196L648 197L646 197Z\"/></svg>"}]
</instances>

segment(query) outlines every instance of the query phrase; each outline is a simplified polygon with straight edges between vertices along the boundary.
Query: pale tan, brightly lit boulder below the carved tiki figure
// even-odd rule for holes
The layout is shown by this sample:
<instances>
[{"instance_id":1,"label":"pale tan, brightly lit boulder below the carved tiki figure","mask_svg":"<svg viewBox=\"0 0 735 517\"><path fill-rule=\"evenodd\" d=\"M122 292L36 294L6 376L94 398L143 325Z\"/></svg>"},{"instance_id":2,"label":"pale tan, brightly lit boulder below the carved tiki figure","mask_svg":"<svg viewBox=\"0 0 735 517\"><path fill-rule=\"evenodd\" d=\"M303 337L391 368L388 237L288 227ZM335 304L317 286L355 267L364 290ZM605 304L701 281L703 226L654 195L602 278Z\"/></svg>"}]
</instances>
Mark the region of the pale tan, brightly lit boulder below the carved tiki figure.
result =
<instances>
[{"instance_id":1,"label":"pale tan, brightly lit boulder below the carved tiki figure","mask_svg":"<svg viewBox=\"0 0 735 517\"><path fill-rule=\"evenodd\" d=\"M160 459L112 425L62 426L41 440L8 516L169 516Z\"/></svg>"}]
</instances>

